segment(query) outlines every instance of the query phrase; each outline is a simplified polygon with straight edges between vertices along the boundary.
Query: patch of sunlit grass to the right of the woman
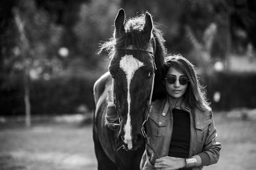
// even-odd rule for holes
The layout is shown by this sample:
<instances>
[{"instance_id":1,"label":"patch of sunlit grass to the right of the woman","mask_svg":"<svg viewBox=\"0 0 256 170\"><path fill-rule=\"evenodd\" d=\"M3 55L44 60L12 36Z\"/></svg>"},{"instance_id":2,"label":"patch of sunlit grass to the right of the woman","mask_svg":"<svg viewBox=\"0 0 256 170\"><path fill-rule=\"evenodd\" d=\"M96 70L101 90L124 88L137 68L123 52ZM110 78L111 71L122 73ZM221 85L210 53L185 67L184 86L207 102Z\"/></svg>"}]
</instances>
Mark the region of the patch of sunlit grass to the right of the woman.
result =
<instances>
[{"instance_id":1,"label":"patch of sunlit grass to the right of the woman","mask_svg":"<svg viewBox=\"0 0 256 170\"><path fill-rule=\"evenodd\" d=\"M222 144L217 164L206 166L206 170L256 169L256 121L218 113L214 115L218 141Z\"/></svg>"}]
</instances>

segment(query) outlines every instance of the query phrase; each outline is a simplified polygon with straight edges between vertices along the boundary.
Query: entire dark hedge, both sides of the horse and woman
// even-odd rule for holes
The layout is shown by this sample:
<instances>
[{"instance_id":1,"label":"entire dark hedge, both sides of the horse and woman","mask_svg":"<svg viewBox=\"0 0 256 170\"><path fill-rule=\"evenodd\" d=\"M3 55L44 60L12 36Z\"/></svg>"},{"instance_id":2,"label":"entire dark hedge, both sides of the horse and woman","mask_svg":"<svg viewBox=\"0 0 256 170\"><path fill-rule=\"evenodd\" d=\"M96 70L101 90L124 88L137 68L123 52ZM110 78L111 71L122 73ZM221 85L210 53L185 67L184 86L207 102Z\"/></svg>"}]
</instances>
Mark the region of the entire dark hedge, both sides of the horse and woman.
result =
<instances>
[{"instance_id":1,"label":"entire dark hedge, both sides of the horse and woman","mask_svg":"<svg viewBox=\"0 0 256 170\"><path fill-rule=\"evenodd\" d=\"M10 86L1 83L1 114L24 114L23 83L21 78L13 80ZM30 82L32 114L75 113L80 105L90 110L94 107L93 84L95 80L81 77L62 77L49 81ZM256 107L256 73L255 72L218 72L202 77L206 85L207 98L214 110ZM221 99L215 102L214 93L219 91Z\"/></svg>"}]
</instances>

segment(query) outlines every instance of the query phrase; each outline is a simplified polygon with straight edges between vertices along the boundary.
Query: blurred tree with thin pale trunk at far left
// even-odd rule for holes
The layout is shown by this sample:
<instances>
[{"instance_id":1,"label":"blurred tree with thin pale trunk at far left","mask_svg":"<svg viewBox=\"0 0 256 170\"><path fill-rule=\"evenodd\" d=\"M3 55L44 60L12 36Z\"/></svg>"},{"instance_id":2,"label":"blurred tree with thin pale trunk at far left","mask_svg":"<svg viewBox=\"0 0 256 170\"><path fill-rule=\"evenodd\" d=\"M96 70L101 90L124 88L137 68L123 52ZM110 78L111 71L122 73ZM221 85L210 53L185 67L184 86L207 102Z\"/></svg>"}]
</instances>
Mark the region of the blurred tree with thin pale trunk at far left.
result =
<instances>
[{"instance_id":1,"label":"blurred tree with thin pale trunk at far left","mask_svg":"<svg viewBox=\"0 0 256 170\"><path fill-rule=\"evenodd\" d=\"M5 40L8 46L1 44L1 88L11 89L12 83L17 80L16 77L23 72L26 125L29 127L29 79L49 79L50 75L62 69L56 52L63 29L55 25L44 10L37 9L32 0L22 0L12 5L10 18L13 18L14 24L6 26L11 28L11 31L5 30L1 34L8 38Z\"/></svg>"}]
</instances>

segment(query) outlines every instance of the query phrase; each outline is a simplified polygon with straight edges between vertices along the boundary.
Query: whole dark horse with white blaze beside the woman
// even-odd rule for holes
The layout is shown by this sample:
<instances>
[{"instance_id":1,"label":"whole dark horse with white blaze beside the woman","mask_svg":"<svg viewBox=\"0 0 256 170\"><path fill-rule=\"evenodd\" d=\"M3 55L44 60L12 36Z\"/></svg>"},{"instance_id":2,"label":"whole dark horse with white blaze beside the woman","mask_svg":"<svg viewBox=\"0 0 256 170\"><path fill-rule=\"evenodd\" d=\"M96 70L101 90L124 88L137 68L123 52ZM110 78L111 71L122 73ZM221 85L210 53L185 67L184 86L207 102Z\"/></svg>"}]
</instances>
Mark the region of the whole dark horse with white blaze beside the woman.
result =
<instances>
[{"instance_id":1,"label":"whole dark horse with white blaze beside the woman","mask_svg":"<svg viewBox=\"0 0 256 170\"><path fill-rule=\"evenodd\" d=\"M165 40L148 12L125 21L125 12L120 9L114 23L113 38L99 50L109 52L109 71L93 87L94 149L100 170L139 169L145 150L141 127L148 101L162 96L159 82L164 76ZM105 123L107 96L112 88L120 123L116 131Z\"/></svg>"}]
</instances>

